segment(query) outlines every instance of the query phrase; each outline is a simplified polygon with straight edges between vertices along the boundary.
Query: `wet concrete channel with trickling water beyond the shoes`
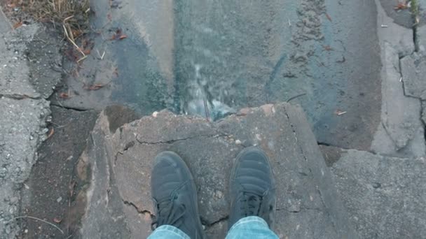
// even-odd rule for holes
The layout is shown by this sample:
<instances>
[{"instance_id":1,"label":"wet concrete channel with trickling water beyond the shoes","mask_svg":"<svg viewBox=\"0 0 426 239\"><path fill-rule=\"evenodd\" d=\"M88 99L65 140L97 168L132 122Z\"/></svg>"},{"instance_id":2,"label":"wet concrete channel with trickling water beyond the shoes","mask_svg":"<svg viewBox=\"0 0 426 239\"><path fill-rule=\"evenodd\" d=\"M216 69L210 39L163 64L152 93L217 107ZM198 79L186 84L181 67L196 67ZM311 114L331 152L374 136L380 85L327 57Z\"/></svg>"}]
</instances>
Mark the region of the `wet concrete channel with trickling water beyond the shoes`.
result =
<instances>
[{"instance_id":1,"label":"wet concrete channel with trickling water beyond the shoes","mask_svg":"<svg viewBox=\"0 0 426 239\"><path fill-rule=\"evenodd\" d=\"M380 119L372 1L102 0L92 10L95 45L66 80L71 97L58 92L56 105L124 103L143 115L169 108L205 116L208 108L214 118L298 96L292 101L317 140L370 146ZM111 41L116 29L127 38ZM107 86L85 89L93 84Z\"/></svg>"}]
</instances>

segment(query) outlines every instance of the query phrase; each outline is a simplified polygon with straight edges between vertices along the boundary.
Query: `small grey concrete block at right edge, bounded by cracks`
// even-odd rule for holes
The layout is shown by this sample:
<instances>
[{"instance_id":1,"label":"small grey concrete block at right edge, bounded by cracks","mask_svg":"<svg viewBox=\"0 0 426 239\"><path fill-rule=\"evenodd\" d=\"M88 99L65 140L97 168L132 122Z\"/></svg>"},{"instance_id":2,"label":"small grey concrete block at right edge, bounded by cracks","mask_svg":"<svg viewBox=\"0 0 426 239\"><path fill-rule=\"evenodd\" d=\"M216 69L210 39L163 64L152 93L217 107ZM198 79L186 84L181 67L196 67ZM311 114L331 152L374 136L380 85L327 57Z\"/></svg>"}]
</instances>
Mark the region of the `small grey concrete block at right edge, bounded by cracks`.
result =
<instances>
[{"instance_id":1,"label":"small grey concrete block at right edge, bounded by cracks","mask_svg":"<svg viewBox=\"0 0 426 239\"><path fill-rule=\"evenodd\" d=\"M406 96L426 99L426 56L416 52L401 60L401 74Z\"/></svg>"}]
</instances>

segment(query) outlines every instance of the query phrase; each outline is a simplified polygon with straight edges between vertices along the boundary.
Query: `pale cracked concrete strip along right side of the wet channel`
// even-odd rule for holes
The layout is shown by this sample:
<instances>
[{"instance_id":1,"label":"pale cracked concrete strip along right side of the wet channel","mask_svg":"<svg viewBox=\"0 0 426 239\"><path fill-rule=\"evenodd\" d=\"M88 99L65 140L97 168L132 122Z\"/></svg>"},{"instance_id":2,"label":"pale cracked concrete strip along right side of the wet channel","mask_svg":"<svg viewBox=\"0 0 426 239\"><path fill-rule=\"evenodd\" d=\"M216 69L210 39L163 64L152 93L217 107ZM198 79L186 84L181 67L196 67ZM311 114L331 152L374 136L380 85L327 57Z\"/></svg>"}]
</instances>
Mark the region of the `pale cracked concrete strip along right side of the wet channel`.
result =
<instances>
[{"instance_id":1,"label":"pale cracked concrete strip along right side of the wet channel","mask_svg":"<svg viewBox=\"0 0 426 239\"><path fill-rule=\"evenodd\" d=\"M425 155L426 147L420 121L420 100L404 94L404 78L399 67L399 57L414 51L413 31L393 23L380 8L378 0L376 4L382 61L382 106L371 150L398 157L421 157Z\"/></svg>"}]
</instances>

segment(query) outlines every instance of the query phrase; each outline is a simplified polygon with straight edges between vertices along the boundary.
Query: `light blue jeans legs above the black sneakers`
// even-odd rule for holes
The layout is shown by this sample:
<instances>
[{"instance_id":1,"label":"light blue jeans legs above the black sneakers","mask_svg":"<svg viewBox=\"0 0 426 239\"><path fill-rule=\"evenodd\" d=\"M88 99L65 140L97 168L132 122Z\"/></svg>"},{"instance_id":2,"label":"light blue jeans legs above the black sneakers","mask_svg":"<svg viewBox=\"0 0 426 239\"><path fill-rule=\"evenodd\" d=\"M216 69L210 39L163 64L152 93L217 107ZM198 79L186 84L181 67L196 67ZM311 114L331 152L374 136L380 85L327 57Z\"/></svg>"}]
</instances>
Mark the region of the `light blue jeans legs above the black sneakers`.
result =
<instances>
[{"instance_id":1,"label":"light blue jeans legs above the black sneakers","mask_svg":"<svg viewBox=\"0 0 426 239\"><path fill-rule=\"evenodd\" d=\"M177 229L174 226L163 225L159 226L158 229L153 231L148 239L190 239L183 231ZM269 229L268 224L265 220L260 217L243 217L238 220L226 235L226 239L277 239L278 236Z\"/></svg>"}]
</instances>

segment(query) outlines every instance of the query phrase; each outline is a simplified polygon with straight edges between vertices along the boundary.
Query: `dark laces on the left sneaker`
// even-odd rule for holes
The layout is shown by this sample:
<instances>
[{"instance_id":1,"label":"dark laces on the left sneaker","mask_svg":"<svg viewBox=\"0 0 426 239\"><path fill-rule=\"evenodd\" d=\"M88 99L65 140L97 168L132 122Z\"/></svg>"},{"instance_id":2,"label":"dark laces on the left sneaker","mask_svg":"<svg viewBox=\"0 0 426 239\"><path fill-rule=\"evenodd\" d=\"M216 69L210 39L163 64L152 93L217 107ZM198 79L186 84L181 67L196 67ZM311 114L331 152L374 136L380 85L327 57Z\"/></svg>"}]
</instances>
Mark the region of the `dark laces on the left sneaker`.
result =
<instances>
[{"instance_id":1,"label":"dark laces on the left sneaker","mask_svg":"<svg viewBox=\"0 0 426 239\"><path fill-rule=\"evenodd\" d=\"M165 198L162 201L156 203L158 215L153 219L151 223L151 229L154 230L154 226L157 228L161 225L172 225L179 228L183 223L183 217L185 215L185 205L177 204L174 201L174 197L172 199Z\"/></svg>"}]
</instances>

